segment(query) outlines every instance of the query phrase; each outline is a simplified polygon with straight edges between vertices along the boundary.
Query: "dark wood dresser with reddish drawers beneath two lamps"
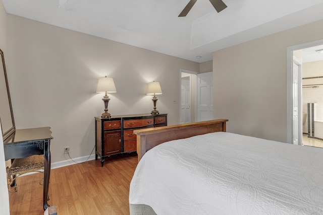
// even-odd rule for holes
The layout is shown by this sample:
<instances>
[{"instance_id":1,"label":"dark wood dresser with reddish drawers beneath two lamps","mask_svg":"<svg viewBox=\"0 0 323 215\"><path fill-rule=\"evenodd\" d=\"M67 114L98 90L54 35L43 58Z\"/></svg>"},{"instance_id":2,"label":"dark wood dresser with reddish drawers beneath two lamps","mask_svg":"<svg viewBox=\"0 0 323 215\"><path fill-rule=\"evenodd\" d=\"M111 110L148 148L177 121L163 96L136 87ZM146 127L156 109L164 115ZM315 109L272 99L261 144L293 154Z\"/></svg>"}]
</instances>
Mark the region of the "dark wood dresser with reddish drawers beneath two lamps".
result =
<instances>
[{"instance_id":1,"label":"dark wood dresser with reddish drawers beneath two lamps","mask_svg":"<svg viewBox=\"0 0 323 215\"><path fill-rule=\"evenodd\" d=\"M137 136L133 130L167 125L167 114L133 114L95 118L95 160L111 155L136 152Z\"/></svg>"}]
</instances>

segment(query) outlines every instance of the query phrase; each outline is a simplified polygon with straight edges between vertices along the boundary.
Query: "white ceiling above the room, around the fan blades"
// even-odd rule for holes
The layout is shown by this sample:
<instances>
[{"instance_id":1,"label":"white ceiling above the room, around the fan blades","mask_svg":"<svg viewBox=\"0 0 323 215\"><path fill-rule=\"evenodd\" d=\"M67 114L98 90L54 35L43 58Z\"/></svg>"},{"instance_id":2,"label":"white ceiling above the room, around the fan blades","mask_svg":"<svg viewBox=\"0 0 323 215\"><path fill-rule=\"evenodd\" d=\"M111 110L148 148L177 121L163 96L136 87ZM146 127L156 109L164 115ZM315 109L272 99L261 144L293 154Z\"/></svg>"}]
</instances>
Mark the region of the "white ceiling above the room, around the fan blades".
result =
<instances>
[{"instance_id":1,"label":"white ceiling above the room, around the fan blades","mask_svg":"<svg viewBox=\"0 0 323 215\"><path fill-rule=\"evenodd\" d=\"M7 13L195 62L212 52L323 19L323 0L2 0ZM196 56L201 56L196 58Z\"/></svg>"}]
</instances>

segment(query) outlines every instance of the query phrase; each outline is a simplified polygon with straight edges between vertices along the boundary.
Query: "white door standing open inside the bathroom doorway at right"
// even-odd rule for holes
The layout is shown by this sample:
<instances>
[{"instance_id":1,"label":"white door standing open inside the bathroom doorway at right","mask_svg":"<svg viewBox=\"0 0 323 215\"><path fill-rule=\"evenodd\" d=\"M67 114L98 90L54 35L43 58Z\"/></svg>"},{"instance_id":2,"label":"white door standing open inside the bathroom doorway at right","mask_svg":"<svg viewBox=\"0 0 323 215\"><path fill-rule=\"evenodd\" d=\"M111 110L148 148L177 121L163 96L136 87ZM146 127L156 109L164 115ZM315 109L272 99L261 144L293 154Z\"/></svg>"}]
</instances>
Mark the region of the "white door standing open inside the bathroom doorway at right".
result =
<instances>
[{"instance_id":1,"label":"white door standing open inside the bathroom doorway at right","mask_svg":"<svg viewBox=\"0 0 323 215\"><path fill-rule=\"evenodd\" d=\"M301 88L299 84L301 83L301 64L296 58L293 59L293 144L302 145L302 132L301 131L301 120L299 116L301 112L301 105L299 104L301 100Z\"/></svg>"}]
</instances>

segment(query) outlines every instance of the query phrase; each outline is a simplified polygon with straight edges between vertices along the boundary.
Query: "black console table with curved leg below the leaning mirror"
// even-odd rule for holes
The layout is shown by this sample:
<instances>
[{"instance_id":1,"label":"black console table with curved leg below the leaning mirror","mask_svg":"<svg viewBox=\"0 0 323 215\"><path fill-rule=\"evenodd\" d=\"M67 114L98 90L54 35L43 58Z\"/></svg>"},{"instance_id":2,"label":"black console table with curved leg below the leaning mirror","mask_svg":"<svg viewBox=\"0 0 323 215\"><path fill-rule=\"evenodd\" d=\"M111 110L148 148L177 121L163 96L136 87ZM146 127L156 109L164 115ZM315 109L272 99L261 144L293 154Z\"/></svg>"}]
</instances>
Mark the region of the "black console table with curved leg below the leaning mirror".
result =
<instances>
[{"instance_id":1,"label":"black console table with curved leg below the leaning mirror","mask_svg":"<svg viewBox=\"0 0 323 215\"><path fill-rule=\"evenodd\" d=\"M44 188L43 188L43 208L49 207L47 194L50 175L50 127L16 129L4 141L5 159L26 158L32 155L44 155Z\"/></svg>"}]
</instances>

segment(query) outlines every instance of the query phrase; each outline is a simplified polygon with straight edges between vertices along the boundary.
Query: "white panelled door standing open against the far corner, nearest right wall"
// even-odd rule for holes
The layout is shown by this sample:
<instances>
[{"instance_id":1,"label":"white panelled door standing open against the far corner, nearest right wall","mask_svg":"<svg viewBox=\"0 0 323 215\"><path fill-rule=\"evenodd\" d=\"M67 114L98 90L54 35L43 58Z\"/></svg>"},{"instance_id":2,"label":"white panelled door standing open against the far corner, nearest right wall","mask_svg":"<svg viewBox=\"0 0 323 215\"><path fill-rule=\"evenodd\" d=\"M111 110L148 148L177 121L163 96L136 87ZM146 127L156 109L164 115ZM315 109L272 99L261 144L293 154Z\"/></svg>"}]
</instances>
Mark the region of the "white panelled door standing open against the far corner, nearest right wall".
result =
<instances>
[{"instance_id":1,"label":"white panelled door standing open against the far corner, nearest right wall","mask_svg":"<svg viewBox=\"0 0 323 215\"><path fill-rule=\"evenodd\" d=\"M213 72L197 74L197 121L213 119Z\"/></svg>"}]
</instances>

